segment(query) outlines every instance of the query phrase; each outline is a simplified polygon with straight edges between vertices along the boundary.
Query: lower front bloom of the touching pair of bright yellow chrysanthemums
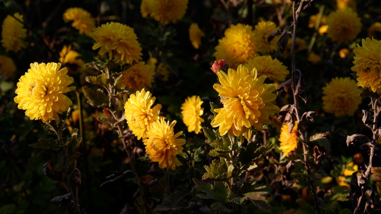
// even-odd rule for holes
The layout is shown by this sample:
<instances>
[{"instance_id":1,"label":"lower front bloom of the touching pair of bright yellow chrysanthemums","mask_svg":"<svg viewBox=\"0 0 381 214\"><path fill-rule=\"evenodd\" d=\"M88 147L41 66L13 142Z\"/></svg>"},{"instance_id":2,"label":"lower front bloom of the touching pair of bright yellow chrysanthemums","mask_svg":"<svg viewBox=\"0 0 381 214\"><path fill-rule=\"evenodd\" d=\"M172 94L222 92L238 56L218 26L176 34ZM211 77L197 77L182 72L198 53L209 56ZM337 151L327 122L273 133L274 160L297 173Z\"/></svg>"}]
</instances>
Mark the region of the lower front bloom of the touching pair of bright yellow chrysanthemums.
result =
<instances>
[{"instance_id":1,"label":"lower front bloom of the touching pair of bright yellow chrysanthemums","mask_svg":"<svg viewBox=\"0 0 381 214\"><path fill-rule=\"evenodd\" d=\"M147 131L147 139L144 140L146 152L149 159L153 162L158 162L159 167L164 169L174 170L176 166L181 166L182 163L177 159L176 155L183 155L183 147L186 143L185 139L178 138L182 131L174 134L173 127L176 120L165 122L164 118L151 123Z\"/></svg>"}]
</instances>

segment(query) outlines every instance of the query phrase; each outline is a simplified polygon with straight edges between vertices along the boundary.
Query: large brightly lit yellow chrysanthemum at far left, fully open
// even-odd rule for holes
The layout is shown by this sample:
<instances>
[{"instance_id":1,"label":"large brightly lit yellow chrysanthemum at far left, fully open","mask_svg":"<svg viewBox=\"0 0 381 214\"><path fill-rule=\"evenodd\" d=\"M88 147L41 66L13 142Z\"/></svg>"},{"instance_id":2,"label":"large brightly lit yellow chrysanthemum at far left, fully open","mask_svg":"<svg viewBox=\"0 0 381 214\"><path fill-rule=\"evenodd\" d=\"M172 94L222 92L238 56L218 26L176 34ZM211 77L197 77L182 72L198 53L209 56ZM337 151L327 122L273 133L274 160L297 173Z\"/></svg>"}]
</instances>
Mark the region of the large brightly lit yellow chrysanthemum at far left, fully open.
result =
<instances>
[{"instance_id":1,"label":"large brightly lit yellow chrysanthemum at far left, fully open","mask_svg":"<svg viewBox=\"0 0 381 214\"><path fill-rule=\"evenodd\" d=\"M66 75L66 68L60 70L60 67L61 63L35 62L20 77L14 102L19 104L19 109L26 110L25 115L30 120L41 119L44 123L59 120L58 114L73 104L64 93L75 89L75 86L68 87L74 79Z\"/></svg>"}]
</instances>

